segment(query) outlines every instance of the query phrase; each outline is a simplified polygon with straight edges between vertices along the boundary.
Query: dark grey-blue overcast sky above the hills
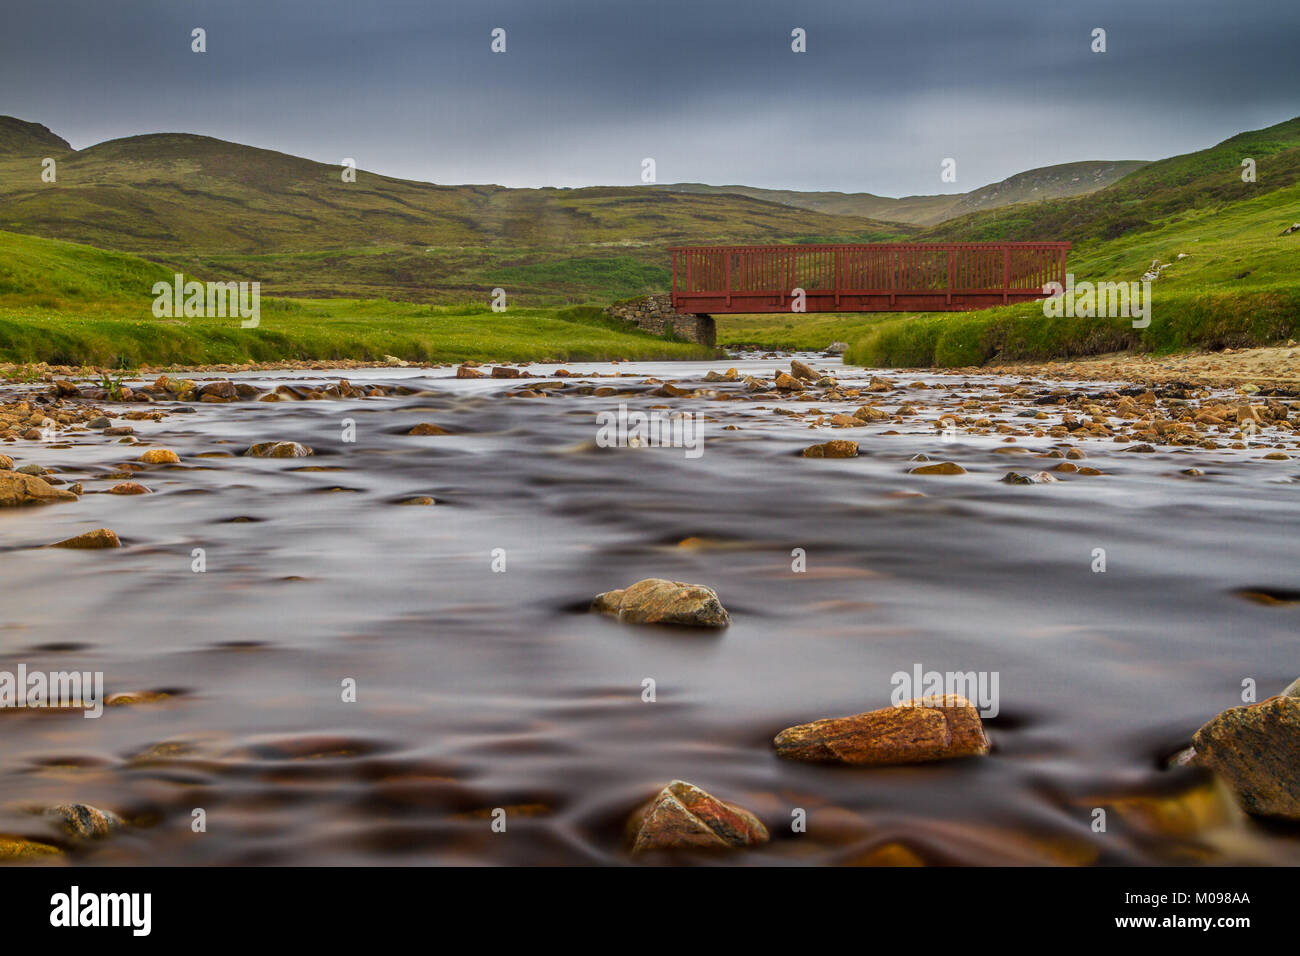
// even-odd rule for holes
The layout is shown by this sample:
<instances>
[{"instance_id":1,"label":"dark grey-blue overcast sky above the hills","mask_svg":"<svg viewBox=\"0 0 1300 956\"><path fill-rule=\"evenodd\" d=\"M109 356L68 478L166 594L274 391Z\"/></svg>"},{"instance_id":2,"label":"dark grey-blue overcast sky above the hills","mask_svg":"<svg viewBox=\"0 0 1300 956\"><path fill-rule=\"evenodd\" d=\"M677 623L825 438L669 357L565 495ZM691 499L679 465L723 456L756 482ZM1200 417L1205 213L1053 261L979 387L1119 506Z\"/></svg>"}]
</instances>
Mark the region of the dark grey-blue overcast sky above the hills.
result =
<instances>
[{"instance_id":1,"label":"dark grey-blue overcast sky above the hills","mask_svg":"<svg viewBox=\"0 0 1300 956\"><path fill-rule=\"evenodd\" d=\"M0 113L433 182L968 190L1300 114L1300 0L3 0ZM208 52L190 52L190 30ZM508 49L489 51L493 27ZM790 52L790 30L807 53ZM1089 51L1093 27L1108 52ZM957 160L956 185L940 163Z\"/></svg>"}]
</instances>

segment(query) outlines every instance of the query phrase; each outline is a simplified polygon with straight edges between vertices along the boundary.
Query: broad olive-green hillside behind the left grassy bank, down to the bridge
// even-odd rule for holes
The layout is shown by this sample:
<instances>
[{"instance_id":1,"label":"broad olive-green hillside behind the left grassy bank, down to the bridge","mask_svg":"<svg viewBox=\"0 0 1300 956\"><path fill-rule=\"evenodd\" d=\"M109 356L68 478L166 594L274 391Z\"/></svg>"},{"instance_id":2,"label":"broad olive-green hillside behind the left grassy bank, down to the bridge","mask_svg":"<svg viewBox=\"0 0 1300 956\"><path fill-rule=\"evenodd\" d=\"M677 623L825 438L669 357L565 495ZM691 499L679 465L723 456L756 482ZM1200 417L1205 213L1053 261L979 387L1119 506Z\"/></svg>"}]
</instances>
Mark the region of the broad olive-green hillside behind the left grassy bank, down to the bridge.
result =
<instances>
[{"instance_id":1,"label":"broad olive-green hillside behind the left grassy bank, down to the bridge","mask_svg":"<svg viewBox=\"0 0 1300 956\"><path fill-rule=\"evenodd\" d=\"M188 134L58 153L57 183L46 183L31 150L40 142L31 130L43 129L12 118L0 125L0 229L257 280L280 295L454 303L484 300L515 282L510 291L532 304L584 302L594 293L612 300L662 290L671 245L872 241L909 232L649 186L438 186L364 170L343 182L341 166ZM21 148L5 148L6 130ZM597 276L607 282L593 282Z\"/></svg>"}]
</instances>

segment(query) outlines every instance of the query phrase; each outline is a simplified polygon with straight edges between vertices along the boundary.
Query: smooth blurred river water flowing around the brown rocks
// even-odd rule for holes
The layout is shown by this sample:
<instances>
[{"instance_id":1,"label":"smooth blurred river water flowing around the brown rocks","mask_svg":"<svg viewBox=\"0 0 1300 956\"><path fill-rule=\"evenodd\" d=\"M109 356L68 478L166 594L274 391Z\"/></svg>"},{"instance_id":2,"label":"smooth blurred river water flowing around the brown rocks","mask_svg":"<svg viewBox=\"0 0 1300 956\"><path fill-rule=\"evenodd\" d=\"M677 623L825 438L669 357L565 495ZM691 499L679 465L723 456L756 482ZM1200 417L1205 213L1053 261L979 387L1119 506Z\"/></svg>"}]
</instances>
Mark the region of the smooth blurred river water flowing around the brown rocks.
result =
<instances>
[{"instance_id":1,"label":"smooth blurred river water flowing around the brown rocks","mask_svg":"<svg viewBox=\"0 0 1300 956\"><path fill-rule=\"evenodd\" d=\"M994 454L1000 437L944 444L933 416L831 433L771 401L640 384L729 364L784 367L567 365L573 384L632 376L588 380L627 390L615 398L508 398L520 382L381 368L347 376L417 393L133 423L144 447L182 459L136 476L152 494L0 512L0 670L103 671L108 693L172 696L99 719L0 713L0 832L81 864L618 864L632 861L628 814L680 778L757 813L772 840L638 862L874 862L900 845L933 864L1300 862L1294 831L1242 817L1204 771L1162 769L1242 702L1243 680L1264 698L1300 675L1300 607L1234 593L1294 593L1300 462L1083 440L1105 476L1008 485L1017 462ZM311 375L338 377L242 380ZM948 390L883 403L1017 381L901 378L914 380ZM711 416L703 454L592 447L618 402ZM454 434L407 434L420 421ZM797 455L840 437L862 454ZM315 455L239 457L268 440ZM5 450L91 490L140 447L81 434ZM235 457L200 457L222 451ZM970 473L909 475L918 453ZM1204 476L1179 473L1191 466ZM437 503L398 503L412 496ZM96 527L124 548L39 548ZM732 626L586 613L651 576L712 587ZM870 769L775 756L781 728L885 706L892 675L916 667L997 675L991 756ZM64 803L131 826L70 845L30 812Z\"/></svg>"}]
</instances>

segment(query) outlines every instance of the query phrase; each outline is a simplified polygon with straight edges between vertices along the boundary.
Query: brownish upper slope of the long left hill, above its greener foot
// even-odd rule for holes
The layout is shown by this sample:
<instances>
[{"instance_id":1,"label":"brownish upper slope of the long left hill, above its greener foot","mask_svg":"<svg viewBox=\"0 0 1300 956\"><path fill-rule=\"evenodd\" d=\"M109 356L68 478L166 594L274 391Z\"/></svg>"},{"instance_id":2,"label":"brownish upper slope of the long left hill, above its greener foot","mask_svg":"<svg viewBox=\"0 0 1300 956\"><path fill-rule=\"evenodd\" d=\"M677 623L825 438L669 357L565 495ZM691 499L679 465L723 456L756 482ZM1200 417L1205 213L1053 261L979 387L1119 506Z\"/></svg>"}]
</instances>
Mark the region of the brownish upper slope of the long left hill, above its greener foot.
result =
<instances>
[{"instance_id":1,"label":"brownish upper slope of the long left hill, above its greener foot","mask_svg":"<svg viewBox=\"0 0 1300 956\"><path fill-rule=\"evenodd\" d=\"M3 118L0 131L0 229L160 258L446 246L623 245L662 254L676 242L868 241L914 232L861 216L649 186L443 186L365 170L343 182L339 165L194 134L127 137L72 151L36 124ZM44 183L32 157L56 146L57 185Z\"/></svg>"}]
</instances>

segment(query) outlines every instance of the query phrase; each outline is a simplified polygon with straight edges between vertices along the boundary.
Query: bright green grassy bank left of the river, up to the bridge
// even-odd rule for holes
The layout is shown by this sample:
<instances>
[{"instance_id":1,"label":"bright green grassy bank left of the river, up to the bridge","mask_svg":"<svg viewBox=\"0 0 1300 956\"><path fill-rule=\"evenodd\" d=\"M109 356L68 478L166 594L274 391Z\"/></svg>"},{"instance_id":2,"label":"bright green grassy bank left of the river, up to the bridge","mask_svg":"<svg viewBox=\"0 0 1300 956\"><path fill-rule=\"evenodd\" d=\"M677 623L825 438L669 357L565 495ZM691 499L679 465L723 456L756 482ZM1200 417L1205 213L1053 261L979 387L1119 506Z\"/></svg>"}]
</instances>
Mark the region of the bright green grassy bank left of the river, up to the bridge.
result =
<instances>
[{"instance_id":1,"label":"bright green grassy bank left of the river, up to the bridge","mask_svg":"<svg viewBox=\"0 0 1300 956\"><path fill-rule=\"evenodd\" d=\"M629 329L599 308L386 299L261 299L261 321L156 319L161 265L0 233L0 362L135 367L286 359L410 362L694 359L712 350Z\"/></svg>"}]
</instances>

